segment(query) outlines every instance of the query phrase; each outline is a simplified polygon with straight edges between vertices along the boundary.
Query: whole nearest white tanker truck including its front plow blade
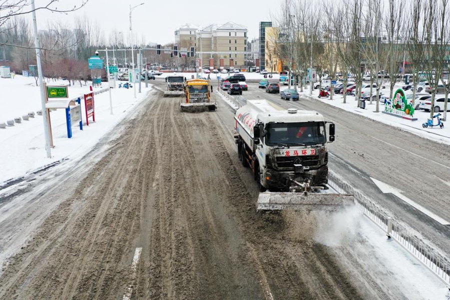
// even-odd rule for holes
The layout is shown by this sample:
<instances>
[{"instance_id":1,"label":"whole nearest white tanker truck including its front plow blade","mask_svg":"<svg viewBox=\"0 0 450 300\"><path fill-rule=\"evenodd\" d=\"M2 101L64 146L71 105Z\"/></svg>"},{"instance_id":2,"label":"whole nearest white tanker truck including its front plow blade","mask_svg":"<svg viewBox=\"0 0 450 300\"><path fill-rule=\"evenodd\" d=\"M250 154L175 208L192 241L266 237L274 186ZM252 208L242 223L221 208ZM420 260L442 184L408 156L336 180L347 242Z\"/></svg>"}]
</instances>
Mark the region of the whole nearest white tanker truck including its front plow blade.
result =
<instances>
[{"instance_id":1,"label":"whole nearest white tanker truck including its front plow blade","mask_svg":"<svg viewBox=\"0 0 450 300\"><path fill-rule=\"evenodd\" d=\"M239 160L252 169L261 191L257 210L334 206L349 199L319 192L327 189L326 143L334 140L334 124L321 114L247 100L234 119Z\"/></svg>"}]
</instances>

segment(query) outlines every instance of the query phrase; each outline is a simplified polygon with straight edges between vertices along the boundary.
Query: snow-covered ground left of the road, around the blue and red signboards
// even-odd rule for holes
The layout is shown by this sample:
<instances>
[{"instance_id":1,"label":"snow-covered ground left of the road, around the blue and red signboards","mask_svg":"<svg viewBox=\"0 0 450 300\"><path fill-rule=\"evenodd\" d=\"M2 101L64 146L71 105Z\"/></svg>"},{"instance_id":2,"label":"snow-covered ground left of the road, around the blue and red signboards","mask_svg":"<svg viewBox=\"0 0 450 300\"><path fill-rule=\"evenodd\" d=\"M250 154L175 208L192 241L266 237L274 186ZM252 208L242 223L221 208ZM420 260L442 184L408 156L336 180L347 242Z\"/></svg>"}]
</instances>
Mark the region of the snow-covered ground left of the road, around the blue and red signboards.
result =
<instances>
[{"instance_id":1,"label":"snow-covered ground left of the road, around the blue and red signboards","mask_svg":"<svg viewBox=\"0 0 450 300\"><path fill-rule=\"evenodd\" d=\"M50 81L48 84L67 84L67 81ZM103 82L103 87L106 86L107 84ZM94 88L94 91L103 87ZM91 122L90 119L89 126L86 126L83 115L83 130L79 130L78 125L73 126L72 138L67 138L65 110L51 111L51 128L55 145L51 149L51 158L46 158L42 116L36 114L28 121L22 120L20 124L0 129L0 185L8 179L25 175L63 158L85 154L120 122L151 88L151 85L145 88L143 83L142 92L138 93L136 90L136 99L133 98L132 88L113 88L112 115L109 113L108 92L95 95L95 122ZM89 85L80 86L79 83L75 83L68 88L70 99L88 92ZM33 77L17 75L14 79L0 78L0 122L40 109L39 88L35 86ZM82 111L84 111L83 103Z\"/></svg>"}]
</instances>

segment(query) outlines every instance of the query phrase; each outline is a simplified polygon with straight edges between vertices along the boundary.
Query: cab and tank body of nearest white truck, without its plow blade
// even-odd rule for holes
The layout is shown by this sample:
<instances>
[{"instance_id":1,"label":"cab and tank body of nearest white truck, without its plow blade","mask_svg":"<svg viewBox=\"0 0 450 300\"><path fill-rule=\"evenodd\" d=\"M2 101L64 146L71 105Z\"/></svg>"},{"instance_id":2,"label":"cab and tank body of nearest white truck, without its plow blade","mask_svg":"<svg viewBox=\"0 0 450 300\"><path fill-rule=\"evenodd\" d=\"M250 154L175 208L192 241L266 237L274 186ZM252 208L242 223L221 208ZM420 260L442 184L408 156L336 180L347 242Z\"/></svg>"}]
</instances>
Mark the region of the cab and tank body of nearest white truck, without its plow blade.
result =
<instances>
[{"instance_id":1,"label":"cab and tank body of nearest white truck, without its plow blade","mask_svg":"<svg viewBox=\"0 0 450 300\"><path fill-rule=\"evenodd\" d=\"M289 191L295 180L327 184L326 143L334 140L334 124L321 114L247 100L234 119L239 159L252 168L262 189Z\"/></svg>"}]
</instances>

